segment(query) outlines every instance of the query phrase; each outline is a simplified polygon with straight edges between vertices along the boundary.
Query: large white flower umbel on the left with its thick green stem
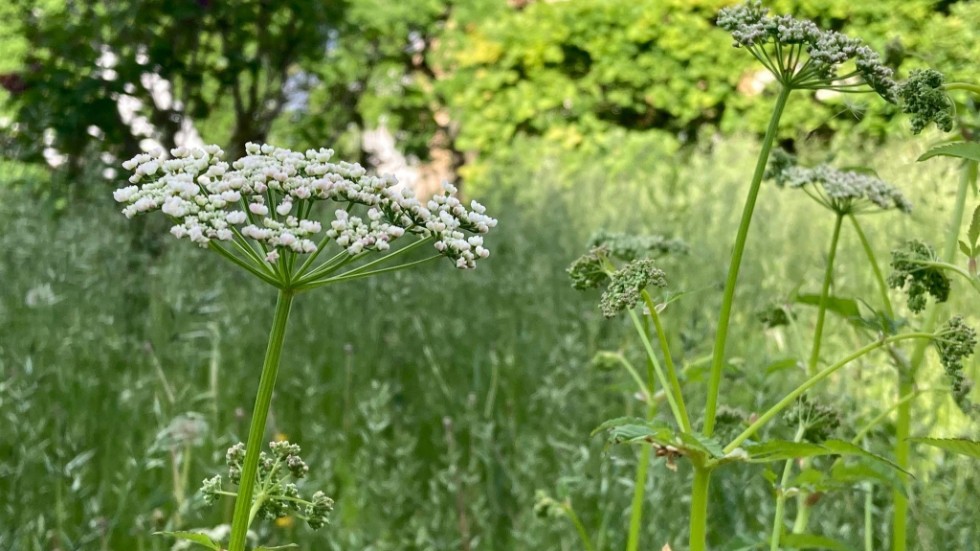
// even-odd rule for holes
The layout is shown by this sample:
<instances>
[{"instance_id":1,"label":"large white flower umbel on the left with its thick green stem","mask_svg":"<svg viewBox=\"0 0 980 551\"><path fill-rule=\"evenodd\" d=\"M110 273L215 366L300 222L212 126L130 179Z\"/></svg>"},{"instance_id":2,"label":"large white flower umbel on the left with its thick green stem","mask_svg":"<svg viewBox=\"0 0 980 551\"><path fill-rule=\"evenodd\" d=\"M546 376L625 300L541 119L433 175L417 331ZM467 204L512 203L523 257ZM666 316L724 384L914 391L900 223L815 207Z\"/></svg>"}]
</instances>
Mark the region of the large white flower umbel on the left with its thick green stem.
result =
<instances>
[{"instance_id":1,"label":"large white flower umbel on the left with its thick green stem","mask_svg":"<svg viewBox=\"0 0 980 551\"><path fill-rule=\"evenodd\" d=\"M245 151L245 157L231 164L214 145L177 148L168 159L137 155L123 164L132 171L131 185L114 194L125 205L126 216L162 211L174 222L174 236L213 249L279 290L240 461L228 551L245 550L249 525L263 504L261 489L253 499L259 449L295 295L441 257L457 268L474 268L490 254L483 235L497 225L476 201L466 208L449 184L423 205L411 190L396 187L393 177L331 162L329 149L297 153L248 144ZM425 244L435 249L433 255L392 262ZM333 256L318 261L331 246L336 249ZM362 261L372 254L378 258ZM215 483L210 484L213 489ZM321 492L312 499L306 516L316 528L326 522L332 501Z\"/></svg>"}]
</instances>

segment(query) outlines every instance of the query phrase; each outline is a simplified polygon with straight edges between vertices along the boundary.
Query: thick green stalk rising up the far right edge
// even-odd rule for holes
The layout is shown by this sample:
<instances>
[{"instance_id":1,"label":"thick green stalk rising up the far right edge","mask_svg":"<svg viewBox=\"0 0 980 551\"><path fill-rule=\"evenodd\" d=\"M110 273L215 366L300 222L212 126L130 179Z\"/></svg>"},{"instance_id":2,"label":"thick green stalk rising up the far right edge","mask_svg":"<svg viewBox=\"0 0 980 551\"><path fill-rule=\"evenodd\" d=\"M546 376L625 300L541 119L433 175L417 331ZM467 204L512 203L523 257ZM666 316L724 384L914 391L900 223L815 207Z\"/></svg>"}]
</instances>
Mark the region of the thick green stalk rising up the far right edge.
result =
<instances>
[{"instance_id":1,"label":"thick green stalk rising up the far right edge","mask_svg":"<svg viewBox=\"0 0 980 551\"><path fill-rule=\"evenodd\" d=\"M956 258L957 240L960 235L960 228L963 225L963 213L966 210L967 191L974 187L977 182L977 163L968 161L963 166L960 173L960 185L956 190L956 203L953 205L953 216L950 220L949 229L946 233L946 243L943 246L942 260L952 262ZM935 304L930 306L926 321L922 331L935 331L936 323L939 320L939 307ZM912 351L912 360L907 372L899 371L898 374L898 395L906 396L915 391L915 373L922 366L925 359L927 342L917 343ZM898 418L895 421L895 463L904 470L908 470L911 447L909 436L912 434L912 402L905 402L898 408ZM908 476L899 473L902 485L907 485ZM904 488L896 488L892 491L892 500L895 502L895 509L892 513L892 551L906 551L908 549L908 518L909 502Z\"/></svg>"}]
</instances>

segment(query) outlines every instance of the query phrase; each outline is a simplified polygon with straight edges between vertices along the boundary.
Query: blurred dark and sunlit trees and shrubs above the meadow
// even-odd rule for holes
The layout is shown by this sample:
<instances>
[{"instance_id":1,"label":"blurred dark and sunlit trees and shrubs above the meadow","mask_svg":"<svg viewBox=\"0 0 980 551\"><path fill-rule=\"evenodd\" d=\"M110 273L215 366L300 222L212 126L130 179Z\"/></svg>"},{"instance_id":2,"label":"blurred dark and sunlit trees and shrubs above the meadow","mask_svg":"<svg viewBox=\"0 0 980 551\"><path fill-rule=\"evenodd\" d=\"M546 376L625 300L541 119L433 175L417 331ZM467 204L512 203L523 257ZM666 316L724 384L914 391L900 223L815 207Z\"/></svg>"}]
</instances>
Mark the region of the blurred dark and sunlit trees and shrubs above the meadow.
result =
<instances>
[{"instance_id":1,"label":"blurred dark and sunlit trees and shrubs above the meadow","mask_svg":"<svg viewBox=\"0 0 980 551\"><path fill-rule=\"evenodd\" d=\"M0 144L27 163L57 153L70 176L194 134L232 155L271 139L371 164L363 135L379 126L410 162L440 159L443 176L475 181L515 140L607 152L640 132L669 153L755 132L765 116L752 98L762 73L714 28L729 3L17 0L0 7ZM976 2L772 8L860 28L902 71L935 64L955 78L980 53ZM787 113L787 136L893 130L860 98L812 102Z\"/></svg>"}]
</instances>

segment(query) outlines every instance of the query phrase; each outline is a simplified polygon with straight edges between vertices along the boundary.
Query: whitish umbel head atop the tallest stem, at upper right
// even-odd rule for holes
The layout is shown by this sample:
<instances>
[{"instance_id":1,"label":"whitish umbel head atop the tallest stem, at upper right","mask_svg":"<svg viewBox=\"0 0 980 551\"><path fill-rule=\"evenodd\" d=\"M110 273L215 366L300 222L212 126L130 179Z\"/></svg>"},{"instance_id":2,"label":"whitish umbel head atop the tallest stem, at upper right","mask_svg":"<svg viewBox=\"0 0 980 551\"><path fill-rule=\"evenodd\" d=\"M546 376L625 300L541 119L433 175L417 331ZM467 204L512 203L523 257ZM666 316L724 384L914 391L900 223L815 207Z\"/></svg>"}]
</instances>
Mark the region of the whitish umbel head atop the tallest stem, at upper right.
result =
<instances>
[{"instance_id":1,"label":"whitish umbel head atop the tallest stem, at upper right","mask_svg":"<svg viewBox=\"0 0 980 551\"><path fill-rule=\"evenodd\" d=\"M789 15L769 16L758 0L722 9L718 26L732 34L784 85L794 89L861 92L867 88L886 101L897 101L892 70L861 40L827 31L813 21ZM839 69L853 62L853 70ZM852 82L852 79L859 82Z\"/></svg>"}]
</instances>

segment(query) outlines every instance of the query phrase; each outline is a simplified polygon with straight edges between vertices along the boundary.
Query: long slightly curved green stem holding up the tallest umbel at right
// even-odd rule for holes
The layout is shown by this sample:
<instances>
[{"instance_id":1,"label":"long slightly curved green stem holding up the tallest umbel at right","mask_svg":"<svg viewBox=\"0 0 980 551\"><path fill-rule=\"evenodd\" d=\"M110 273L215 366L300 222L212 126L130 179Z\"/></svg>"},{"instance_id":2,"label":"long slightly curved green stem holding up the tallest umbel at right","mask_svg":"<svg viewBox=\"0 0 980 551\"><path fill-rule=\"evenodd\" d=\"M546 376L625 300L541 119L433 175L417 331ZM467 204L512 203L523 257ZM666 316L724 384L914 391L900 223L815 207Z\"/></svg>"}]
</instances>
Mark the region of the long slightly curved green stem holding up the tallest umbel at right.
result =
<instances>
[{"instance_id":1,"label":"long slightly curved green stem holding up the tallest umbel at right","mask_svg":"<svg viewBox=\"0 0 980 551\"><path fill-rule=\"evenodd\" d=\"M766 129L766 136L762 140L762 150L759 152L755 173L752 175L752 184L749 186L749 193L742 208L742 220L739 222L738 233L735 235L735 246L732 249L732 259L728 267L728 278L725 281L725 292L722 296L721 312L718 314L718 330L715 335L714 352L711 358L711 376L704 411L704 434L706 436L711 436L715 429L718 393L721 390L721 374L725 367L728 326L731 322L735 286L738 283L738 272L742 265L742 254L745 251L745 242L749 235L749 225L752 222L752 213L755 211L756 199L759 197L759 188L762 186L762 177L766 172L766 164L769 162L769 152L772 150L772 144L779 129L779 119L782 117L786 100L789 99L789 94L792 91L793 89L787 86L783 86L779 90L779 97L776 98L776 105L773 107L772 115L769 118L769 128Z\"/></svg>"}]
</instances>

